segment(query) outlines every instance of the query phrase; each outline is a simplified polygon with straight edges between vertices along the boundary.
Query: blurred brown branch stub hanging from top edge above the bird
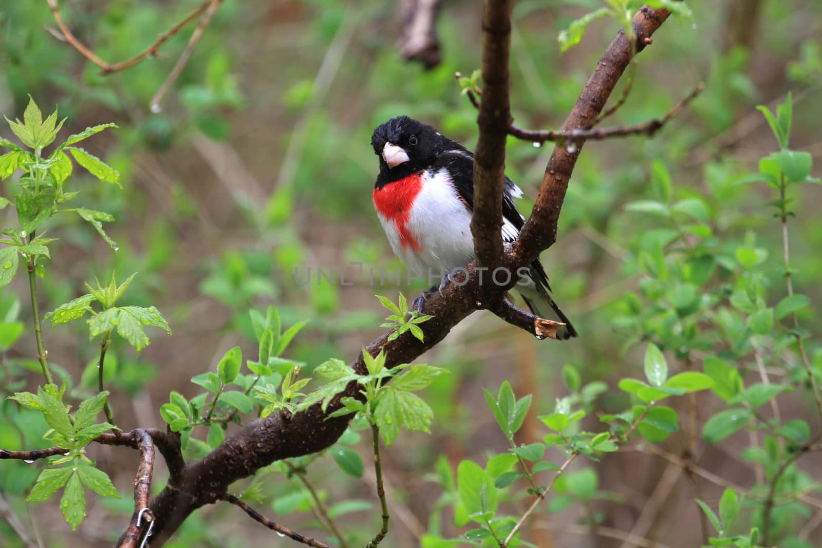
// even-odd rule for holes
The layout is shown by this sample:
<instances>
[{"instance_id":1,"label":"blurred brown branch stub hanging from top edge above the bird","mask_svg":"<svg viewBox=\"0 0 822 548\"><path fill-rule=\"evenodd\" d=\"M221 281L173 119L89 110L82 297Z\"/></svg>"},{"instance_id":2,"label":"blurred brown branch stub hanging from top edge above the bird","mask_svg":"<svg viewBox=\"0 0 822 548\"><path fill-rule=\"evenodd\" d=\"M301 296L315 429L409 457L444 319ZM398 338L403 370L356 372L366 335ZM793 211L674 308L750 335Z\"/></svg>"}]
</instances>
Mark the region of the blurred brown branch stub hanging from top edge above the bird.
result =
<instances>
[{"instance_id":1,"label":"blurred brown branch stub hanging from top edge above the bird","mask_svg":"<svg viewBox=\"0 0 822 548\"><path fill-rule=\"evenodd\" d=\"M422 61L426 68L440 64L440 40L436 37L436 15L440 0L402 0L403 35L399 53L406 61Z\"/></svg>"}]
</instances>

